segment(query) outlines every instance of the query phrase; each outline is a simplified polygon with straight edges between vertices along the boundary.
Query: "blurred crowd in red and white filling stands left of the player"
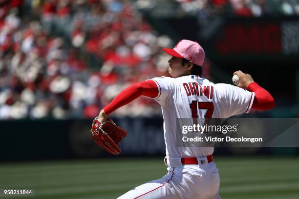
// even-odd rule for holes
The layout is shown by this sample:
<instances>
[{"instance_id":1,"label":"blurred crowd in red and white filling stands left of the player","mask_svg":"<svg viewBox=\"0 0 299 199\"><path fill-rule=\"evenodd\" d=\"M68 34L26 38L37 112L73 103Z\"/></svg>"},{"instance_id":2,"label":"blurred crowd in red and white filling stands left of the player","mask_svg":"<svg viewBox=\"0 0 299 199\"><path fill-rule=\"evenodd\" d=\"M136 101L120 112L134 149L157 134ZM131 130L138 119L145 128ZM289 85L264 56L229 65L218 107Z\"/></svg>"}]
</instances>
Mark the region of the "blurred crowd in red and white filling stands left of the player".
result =
<instances>
[{"instance_id":1,"label":"blurred crowd in red and white filling stands left of the player","mask_svg":"<svg viewBox=\"0 0 299 199\"><path fill-rule=\"evenodd\" d=\"M95 117L128 85L166 75L171 45L127 2L1 0L0 119ZM157 112L142 98L116 114Z\"/></svg>"}]
</instances>

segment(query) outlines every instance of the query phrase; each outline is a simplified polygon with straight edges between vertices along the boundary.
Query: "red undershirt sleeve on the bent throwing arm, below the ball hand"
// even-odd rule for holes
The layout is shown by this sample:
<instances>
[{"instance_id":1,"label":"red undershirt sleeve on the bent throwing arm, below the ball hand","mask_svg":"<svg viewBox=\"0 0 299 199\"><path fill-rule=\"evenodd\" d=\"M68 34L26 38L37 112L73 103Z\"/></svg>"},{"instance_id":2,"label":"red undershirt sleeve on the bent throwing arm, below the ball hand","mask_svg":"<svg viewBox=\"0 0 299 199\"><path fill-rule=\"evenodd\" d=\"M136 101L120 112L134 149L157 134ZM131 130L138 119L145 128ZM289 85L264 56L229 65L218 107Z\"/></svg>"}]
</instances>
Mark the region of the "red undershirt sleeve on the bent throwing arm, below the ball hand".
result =
<instances>
[{"instance_id":1,"label":"red undershirt sleeve on the bent throwing arm, below the ball hand","mask_svg":"<svg viewBox=\"0 0 299 199\"><path fill-rule=\"evenodd\" d=\"M252 108L258 110L268 110L274 108L275 100L267 90L260 87L256 82L250 83L248 85L248 89L255 93L255 99L252 104Z\"/></svg>"}]
</instances>

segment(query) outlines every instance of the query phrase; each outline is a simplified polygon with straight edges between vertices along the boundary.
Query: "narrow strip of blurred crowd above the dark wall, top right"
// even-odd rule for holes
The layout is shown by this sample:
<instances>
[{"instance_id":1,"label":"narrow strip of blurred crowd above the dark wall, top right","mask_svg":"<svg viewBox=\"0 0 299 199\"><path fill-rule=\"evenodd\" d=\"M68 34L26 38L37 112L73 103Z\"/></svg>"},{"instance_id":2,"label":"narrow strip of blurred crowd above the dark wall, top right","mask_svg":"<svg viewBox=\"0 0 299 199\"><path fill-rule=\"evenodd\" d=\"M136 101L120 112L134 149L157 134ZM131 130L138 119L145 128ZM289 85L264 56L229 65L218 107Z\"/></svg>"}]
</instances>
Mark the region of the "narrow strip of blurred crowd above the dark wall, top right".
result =
<instances>
[{"instance_id":1,"label":"narrow strip of blurred crowd above the dark wall, top right","mask_svg":"<svg viewBox=\"0 0 299 199\"><path fill-rule=\"evenodd\" d=\"M299 0L176 0L188 14L261 17L298 16Z\"/></svg>"}]
</instances>

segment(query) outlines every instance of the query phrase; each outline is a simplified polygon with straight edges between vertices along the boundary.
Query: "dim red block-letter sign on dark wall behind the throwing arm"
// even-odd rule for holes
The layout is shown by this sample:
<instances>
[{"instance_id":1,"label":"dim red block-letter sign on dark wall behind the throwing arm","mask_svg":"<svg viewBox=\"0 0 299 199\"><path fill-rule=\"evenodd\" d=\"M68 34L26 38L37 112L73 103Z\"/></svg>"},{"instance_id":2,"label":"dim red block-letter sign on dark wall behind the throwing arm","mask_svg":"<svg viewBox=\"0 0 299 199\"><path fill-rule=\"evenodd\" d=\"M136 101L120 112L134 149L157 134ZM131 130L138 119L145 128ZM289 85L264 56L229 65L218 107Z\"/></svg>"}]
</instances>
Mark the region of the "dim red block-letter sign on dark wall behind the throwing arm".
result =
<instances>
[{"instance_id":1,"label":"dim red block-letter sign on dark wall behind the throwing arm","mask_svg":"<svg viewBox=\"0 0 299 199\"><path fill-rule=\"evenodd\" d=\"M215 48L220 55L281 54L280 25L230 24L224 28Z\"/></svg>"}]
</instances>

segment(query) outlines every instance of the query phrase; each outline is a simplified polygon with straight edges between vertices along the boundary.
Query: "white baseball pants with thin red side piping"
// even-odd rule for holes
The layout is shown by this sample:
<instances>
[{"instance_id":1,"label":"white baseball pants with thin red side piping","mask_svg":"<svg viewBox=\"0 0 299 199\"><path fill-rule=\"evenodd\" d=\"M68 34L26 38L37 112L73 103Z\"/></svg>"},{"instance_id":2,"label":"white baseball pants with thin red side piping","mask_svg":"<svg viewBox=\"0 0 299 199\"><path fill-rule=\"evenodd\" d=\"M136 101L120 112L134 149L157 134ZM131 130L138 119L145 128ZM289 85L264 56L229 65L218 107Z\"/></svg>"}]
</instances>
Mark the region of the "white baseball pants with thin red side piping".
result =
<instances>
[{"instance_id":1,"label":"white baseball pants with thin red side piping","mask_svg":"<svg viewBox=\"0 0 299 199\"><path fill-rule=\"evenodd\" d=\"M135 187L118 199L221 199L214 162L168 166L169 172L163 178Z\"/></svg>"}]
</instances>

